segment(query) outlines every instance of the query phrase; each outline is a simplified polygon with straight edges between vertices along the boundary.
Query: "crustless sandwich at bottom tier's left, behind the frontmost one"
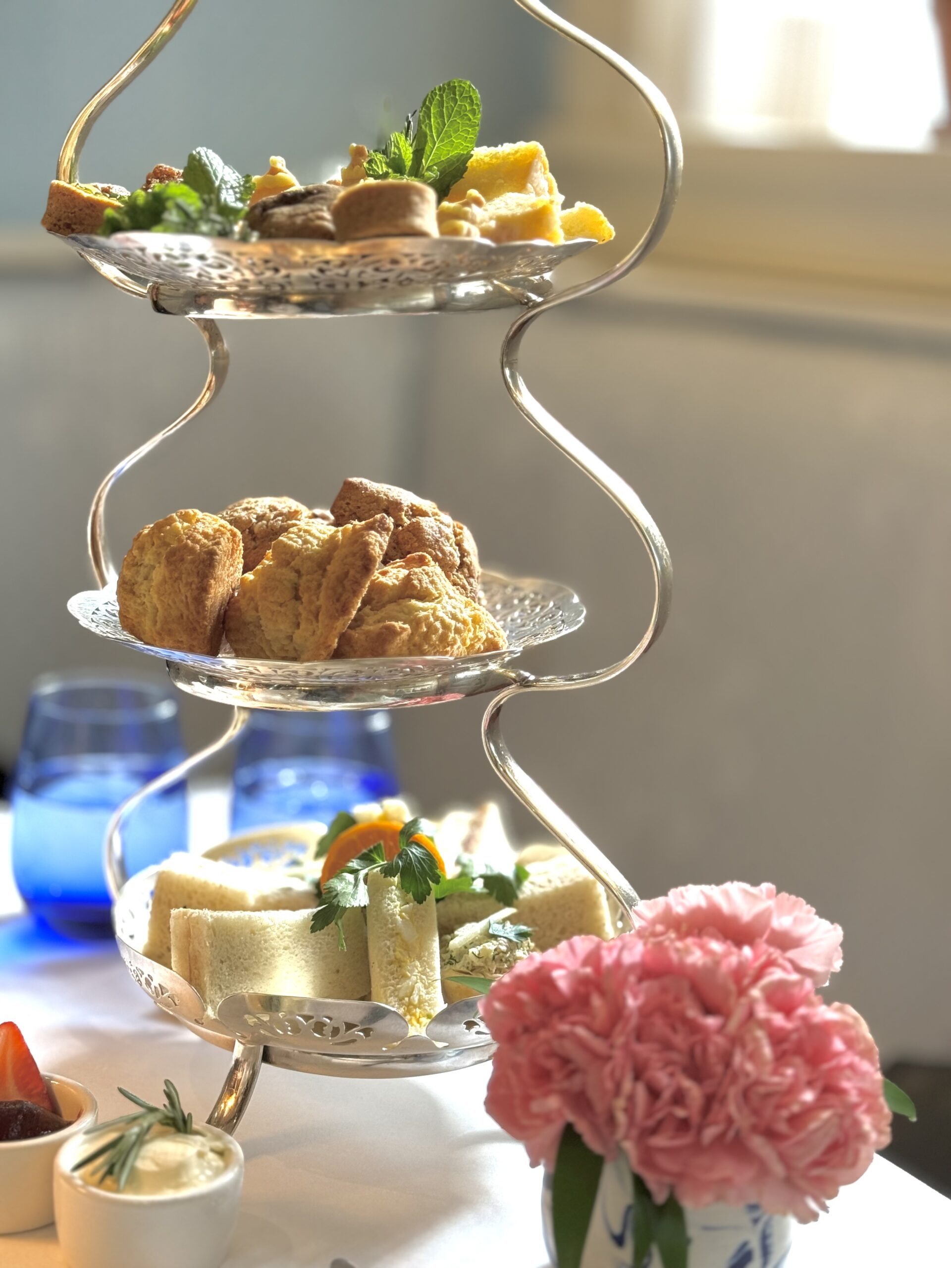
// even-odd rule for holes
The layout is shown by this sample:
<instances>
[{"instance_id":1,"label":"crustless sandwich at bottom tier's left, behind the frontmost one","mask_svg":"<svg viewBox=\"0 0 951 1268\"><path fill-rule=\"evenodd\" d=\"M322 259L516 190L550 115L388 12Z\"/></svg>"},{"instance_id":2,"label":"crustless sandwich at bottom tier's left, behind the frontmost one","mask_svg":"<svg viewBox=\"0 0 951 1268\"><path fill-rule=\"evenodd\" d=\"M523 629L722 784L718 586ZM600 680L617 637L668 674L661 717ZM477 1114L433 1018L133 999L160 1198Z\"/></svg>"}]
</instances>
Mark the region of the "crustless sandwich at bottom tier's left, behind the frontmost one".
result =
<instances>
[{"instance_id":1,"label":"crustless sandwich at bottom tier's left, behind the frontmost one","mask_svg":"<svg viewBox=\"0 0 951 1268\"><path fill-rule=\"evenodd\" d=\"M171 855L155 879L142 954L171 967L170 921L176 907L210 912L301 910L316 905L313 886L276 870L238 867L204 855Z\"/></svg>"}]
</instances>

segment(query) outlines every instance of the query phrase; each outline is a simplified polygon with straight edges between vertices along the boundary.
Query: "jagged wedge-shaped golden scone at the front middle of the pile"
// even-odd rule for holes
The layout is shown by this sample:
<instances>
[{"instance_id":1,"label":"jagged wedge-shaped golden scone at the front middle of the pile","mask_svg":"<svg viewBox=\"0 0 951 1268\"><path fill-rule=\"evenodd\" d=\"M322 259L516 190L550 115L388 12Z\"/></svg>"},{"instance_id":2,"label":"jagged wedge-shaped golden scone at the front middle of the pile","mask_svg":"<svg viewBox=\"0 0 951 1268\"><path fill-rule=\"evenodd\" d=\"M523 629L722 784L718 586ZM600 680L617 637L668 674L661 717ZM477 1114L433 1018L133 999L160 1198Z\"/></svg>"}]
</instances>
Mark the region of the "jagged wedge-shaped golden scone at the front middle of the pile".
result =
<instances>
[{"instance_id":1,"label":"jagged wedge-shaped golden scone at the front middle of the pile","mask_svg":"<svg viewBox=\"0 0 951 1268\"><path fill-rule=\"evenodd\" d=\"M393 531L377 515L333 527L302 520L241 578L224 631L235 653L264 661L328 661L354 618Z\"/></svg>"}]
</instances>

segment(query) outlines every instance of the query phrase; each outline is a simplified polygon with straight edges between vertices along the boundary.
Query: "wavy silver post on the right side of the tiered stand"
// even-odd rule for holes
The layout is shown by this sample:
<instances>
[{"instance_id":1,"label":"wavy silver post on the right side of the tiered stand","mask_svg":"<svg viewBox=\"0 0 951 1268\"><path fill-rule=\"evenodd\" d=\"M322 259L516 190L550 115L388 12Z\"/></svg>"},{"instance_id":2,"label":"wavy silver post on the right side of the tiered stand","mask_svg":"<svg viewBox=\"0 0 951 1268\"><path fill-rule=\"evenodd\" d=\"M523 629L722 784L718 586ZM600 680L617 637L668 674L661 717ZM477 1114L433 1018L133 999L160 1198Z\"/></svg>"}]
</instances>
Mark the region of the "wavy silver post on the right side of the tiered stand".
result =
<instances>
[{"instance_id":1,"label":"wavy silver post on the right side of the tiered stand","mask_svg":"<svg viewBox=\"0 0 951 1268\"><path fill-rule=\"evenodd\" d=\"M681 172L683 167L683 153L681 148L680 132L676 119L667 104L663 94L640 74L630 62L619 57L606 44L592 39L578 27L559 18L540 0L515 0L517 5L530 13L539 22L564 36L583 48L596 53L602 61L612 66L629 84L631 84L650 108L661 132L664 156L664 183L661 194L661 203L644 236L614 269L591 281L571 287L568 290L538 304L538 307L522 313L512 323L511 330L502 344L502 374L506 388L517 404L522 415L533 427L536 427L552 444L560 449L571 460L579 467L591 479L602 488L605 493L624 511L638 531L650 558L650 567L654 576L654 606L650 623L645 634L639 640L633 652L625 656L616 664L605 670L595 670L585 673L574 673L564 677L552 676L533 678L525 676L519 683L508 687L497 695L486 710L483 719L482 738L486 753L496 772L516 796L531 810L531 813L554 833L554 836L582 862L588 871L609 890L620 904L628 921L633 923L634 907L638 895L631 889L628 880L618 867L590 841L585 833L559 809L558 805L539 787L512 757L501 729L502 709L516 695L527 691L566 691L576 687L593 686L597 682L607 682L616 675L623 673L647 652L657 635L663 629L671 605L671 557L664 545L663 538L644 508L643 502L634 489L607 467L606 463L593 454L586 445L582 445L568 430L554 418L548 410L529 392L525 380L519 373L519 351L521 341L529 326L544 312L568 303L571 299L591 295L595 292L610 287L619 281L631 269L634 269L644 256L653 250L663 236L664 230L673 213L673 207L680 193Z\"/></svg>"}]
</instances>

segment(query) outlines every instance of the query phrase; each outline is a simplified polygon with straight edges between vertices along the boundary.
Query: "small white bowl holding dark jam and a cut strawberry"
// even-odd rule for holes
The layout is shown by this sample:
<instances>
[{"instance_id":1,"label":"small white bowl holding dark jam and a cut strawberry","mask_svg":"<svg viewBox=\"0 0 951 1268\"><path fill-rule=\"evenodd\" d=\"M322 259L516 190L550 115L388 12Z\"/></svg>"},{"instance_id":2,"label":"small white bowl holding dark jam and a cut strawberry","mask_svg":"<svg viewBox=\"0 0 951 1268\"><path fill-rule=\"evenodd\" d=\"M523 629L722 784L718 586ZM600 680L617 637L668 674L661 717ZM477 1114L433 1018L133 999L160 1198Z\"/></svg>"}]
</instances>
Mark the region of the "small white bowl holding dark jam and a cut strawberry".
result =
<instances>
[{"instance_id":1,"label":"small white bowl holding dark jam and a cut strawberry","mask_svg":"<svg viewBox=\"0 0 951 1268\"><path fill-rule=\"evenodd\" d=\"M62 1131L33 1140L0 1141L0 1232L29 1232L53 1222L53 1159L62 1145L96 1121L96 1102L81 1083L44 1074L60 1102Z\"/></svg>"}]
</instances>

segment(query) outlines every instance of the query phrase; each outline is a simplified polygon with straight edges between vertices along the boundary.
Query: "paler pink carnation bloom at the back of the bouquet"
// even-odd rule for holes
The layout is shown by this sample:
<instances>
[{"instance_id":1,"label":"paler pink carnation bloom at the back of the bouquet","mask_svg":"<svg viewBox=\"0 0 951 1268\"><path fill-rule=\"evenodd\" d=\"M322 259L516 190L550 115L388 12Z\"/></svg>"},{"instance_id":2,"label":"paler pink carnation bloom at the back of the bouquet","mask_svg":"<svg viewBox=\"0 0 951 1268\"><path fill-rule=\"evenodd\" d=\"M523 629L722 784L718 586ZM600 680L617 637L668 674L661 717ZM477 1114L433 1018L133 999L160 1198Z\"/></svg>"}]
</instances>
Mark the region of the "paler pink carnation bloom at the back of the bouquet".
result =
<instances>
[{"instance_id":1,"label":"paler pink carnation bloom at the back of the bouquet","mask_svg":"<svg viewBox=\"0 0 951 1268\"><path fill-rule=\"evenodd\" d=\"M775 885L681 885L642 903L635 918L642 936L709 933L741 945L767 942L817 987L842 967L839 926L801 898L777 894Z\"/></svg>"}]
</instances>

